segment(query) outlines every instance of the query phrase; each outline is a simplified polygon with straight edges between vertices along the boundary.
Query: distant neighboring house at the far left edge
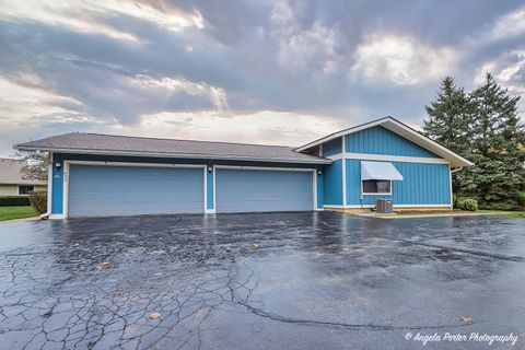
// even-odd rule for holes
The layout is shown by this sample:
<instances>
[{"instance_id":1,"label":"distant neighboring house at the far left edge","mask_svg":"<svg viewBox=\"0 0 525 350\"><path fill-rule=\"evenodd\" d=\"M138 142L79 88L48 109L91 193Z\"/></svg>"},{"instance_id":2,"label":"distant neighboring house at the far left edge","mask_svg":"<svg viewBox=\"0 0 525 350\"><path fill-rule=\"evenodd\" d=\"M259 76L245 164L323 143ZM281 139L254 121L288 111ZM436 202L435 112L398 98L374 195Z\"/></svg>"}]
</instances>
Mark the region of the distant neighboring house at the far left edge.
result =
<instances>
[{"instance_id":1,"label":"distant neighboring house at the far left edge","mask_svg":"<svg viewBox=\"0 0 525 350\"><path fill-rule=\"evenodd\" d=\"M23 178L25 161L0 158L0 196L26 196L32 190L45 190L46 182Z\"/></svg>"}]
</instances>

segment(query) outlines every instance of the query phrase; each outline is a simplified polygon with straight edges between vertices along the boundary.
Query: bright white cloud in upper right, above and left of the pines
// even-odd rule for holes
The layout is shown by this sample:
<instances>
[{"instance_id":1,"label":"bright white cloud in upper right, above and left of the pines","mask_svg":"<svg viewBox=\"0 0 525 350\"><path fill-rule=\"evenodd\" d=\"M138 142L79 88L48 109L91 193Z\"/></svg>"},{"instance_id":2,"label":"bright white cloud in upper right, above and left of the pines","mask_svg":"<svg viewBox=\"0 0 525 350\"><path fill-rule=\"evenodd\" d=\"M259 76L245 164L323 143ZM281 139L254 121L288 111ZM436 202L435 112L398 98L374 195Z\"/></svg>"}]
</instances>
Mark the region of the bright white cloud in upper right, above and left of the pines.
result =
<instances>
[{"instance_id":1,"label":"bright white cloud in upper right, above and left of the pines","mask_svg":"<svg viewBox=\"0 0 525 350\"><path fill-rule=\"evenodd\" d=\"M457 52L433 48L409 36L375 34L359 45L351 78L416 85L448 74Z\"/></svg>"}]
</instances>

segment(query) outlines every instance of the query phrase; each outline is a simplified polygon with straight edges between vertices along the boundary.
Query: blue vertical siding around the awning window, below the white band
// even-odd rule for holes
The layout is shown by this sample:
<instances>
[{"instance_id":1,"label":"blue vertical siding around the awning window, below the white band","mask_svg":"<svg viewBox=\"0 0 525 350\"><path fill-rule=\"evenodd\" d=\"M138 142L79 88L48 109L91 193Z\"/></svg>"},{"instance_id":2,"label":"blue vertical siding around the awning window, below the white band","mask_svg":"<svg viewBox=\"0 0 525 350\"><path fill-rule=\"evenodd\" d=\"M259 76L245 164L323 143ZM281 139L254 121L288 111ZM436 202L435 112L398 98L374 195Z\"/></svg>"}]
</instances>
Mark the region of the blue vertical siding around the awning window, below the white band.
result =
<instances>
[{"instance_id":1,"label":"blue vertical siding around the awning window, below the white band","mask_svg":"<svg viewBox=\"0 0 525 350\"><path fill-rule=\"evenodd\" d=\"M361 161L347 160L347 205L361 205ZM451 203L450 167L447 164L392 162L404 179L393 182L392 196L368 195L362 205L375 199L392 199L396 205Z\"/></svg>"}]
</instances>

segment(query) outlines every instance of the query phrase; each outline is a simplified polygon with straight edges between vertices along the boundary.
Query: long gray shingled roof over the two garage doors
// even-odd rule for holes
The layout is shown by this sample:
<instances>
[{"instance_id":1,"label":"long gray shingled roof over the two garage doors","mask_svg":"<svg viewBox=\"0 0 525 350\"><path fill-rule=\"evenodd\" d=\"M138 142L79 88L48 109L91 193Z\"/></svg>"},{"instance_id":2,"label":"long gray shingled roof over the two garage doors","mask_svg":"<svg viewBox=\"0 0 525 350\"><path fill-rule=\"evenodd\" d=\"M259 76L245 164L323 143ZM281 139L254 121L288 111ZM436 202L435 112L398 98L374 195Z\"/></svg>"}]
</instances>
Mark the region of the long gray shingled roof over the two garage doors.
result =
<instances>
[{"instance_id":1,"label":"long gray shingled roof over the two garage doors","mask_svg":"<svg viewBox=\"0 0 525 350\"><path fill-rule=\"evenodd\" d=\"M63 153L119 154L170 158L253 160L266 162L330 163L330 160L293 151L282 145L154 139L71 132L20 143L18 150Z\"/></svg>"}]
</instances>

